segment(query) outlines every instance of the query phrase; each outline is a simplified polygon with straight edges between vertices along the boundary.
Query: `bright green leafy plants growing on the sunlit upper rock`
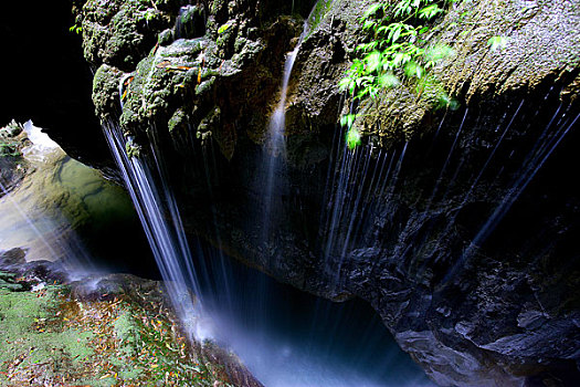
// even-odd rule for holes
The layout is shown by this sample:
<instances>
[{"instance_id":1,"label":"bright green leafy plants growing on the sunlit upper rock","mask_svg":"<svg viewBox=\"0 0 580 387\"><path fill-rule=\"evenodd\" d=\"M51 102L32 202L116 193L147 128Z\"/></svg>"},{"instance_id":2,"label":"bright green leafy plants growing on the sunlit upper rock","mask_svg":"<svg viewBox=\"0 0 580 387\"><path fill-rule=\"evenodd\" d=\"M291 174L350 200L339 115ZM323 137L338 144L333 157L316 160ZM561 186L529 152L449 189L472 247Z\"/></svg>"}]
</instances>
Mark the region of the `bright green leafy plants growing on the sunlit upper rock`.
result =
<instances>
[{"instance_id":1,"label":"bright green leafy plants growing on the sunlit upper rock","mask_svg":"<svg viewBox=\"0 0 580 387\"><path fill-rule=\"evenodd\" d=\"M340 80L340 90L348 91L355 100L376 98L383 88L414 82L418 94L435 101L435 107L450 106L452 100L430 70L454 52L446 45L425 46L425 39L431 30L429 23L453 2L455 0L399 0L393 4L382 0L370 6L361 23L372 38L357 46L359 57ZM358 139L360 142L360 134Z\"/></svg>"}]
</instances>

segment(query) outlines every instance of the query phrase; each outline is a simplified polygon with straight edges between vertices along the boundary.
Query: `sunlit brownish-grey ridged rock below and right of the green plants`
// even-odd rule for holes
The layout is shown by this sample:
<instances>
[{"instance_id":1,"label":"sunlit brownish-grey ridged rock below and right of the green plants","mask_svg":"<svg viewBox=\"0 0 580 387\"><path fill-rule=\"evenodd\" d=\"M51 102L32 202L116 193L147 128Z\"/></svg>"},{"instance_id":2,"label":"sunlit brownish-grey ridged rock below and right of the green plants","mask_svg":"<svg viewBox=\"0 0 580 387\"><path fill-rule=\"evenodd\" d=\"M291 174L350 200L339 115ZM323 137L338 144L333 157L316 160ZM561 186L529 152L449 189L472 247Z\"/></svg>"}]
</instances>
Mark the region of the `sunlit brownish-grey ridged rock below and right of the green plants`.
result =
<instances>
[{"instance_id":1,"label":"sunlit brownish-grey ridged rock below and right of the green plants","mask_svg":"<svg viewBox=\"0 0 580 387\"><path fill-rule=\"evenodd\" d=\"M445 44L454 55L433 70L436 79L462 103L504 104L524 95L557 90L576 98L578 83L578 2L498 1L460 2L433 29L431 42ZM489 39L505 45L492 50ZM411 138L432 121L432 103L413 87L387 91L392 104L366 102L357 126L378 135L378 143Z\"/></svg>"}]
</instances>

